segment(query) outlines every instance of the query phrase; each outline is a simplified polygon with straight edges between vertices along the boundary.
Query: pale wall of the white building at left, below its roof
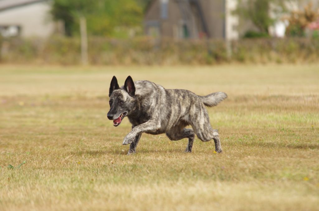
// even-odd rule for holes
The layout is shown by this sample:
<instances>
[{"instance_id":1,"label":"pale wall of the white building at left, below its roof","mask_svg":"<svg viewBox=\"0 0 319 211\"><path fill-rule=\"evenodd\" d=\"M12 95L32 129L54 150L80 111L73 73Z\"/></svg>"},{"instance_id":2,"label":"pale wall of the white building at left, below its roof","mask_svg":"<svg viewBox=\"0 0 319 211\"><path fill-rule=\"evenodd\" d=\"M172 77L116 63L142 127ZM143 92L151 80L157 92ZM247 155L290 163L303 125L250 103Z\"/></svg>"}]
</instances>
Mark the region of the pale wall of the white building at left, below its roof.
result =
<instances>
[{"instance_id":1,"label":"pale wall of the white building at left, below its roof","mask_svg":"<svg viewBox=\"0 0 319 211\"><path fill-rule=\"evenodd\" d=\"M55 23L49 15L50 4L45 2L29 4L0 12L1 25L18 25L21 36L48 37L55 31Z\"/></svg>"}]
</instances>

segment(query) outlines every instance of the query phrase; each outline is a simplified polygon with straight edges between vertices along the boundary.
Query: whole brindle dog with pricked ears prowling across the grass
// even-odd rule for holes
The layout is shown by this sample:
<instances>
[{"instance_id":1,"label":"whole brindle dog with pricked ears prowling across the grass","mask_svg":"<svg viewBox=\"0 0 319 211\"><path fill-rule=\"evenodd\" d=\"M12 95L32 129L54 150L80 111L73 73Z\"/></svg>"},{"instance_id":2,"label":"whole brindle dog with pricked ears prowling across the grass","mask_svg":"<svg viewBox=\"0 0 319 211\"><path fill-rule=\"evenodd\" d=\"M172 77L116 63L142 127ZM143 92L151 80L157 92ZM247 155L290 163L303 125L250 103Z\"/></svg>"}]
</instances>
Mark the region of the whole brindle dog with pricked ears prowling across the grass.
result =
<instances>
[{"instance_id":1,"label":"whole brindle dog with pricked ears prowling across the grass","mask_svg":"<svg viewBox=\"0 0 319 211\"><path fill-rule=\"evenodd\" d=\"M166 133L170 140L188 138L185 152L191 152L195 134L203 142L214 139L216 152L221 153L218 130L209 122L206 106L216 106L227 98L224 92L198 96L188 90L164 89L150 81L135 81L131 76L121 88L113 76L110 90L108 119L119 126L128 117L132 130L125 136L123 145L130 144L129 154L136 152L142 133ZM193 129L187 129L191 125Z\"/></svg>"}]
</instances>

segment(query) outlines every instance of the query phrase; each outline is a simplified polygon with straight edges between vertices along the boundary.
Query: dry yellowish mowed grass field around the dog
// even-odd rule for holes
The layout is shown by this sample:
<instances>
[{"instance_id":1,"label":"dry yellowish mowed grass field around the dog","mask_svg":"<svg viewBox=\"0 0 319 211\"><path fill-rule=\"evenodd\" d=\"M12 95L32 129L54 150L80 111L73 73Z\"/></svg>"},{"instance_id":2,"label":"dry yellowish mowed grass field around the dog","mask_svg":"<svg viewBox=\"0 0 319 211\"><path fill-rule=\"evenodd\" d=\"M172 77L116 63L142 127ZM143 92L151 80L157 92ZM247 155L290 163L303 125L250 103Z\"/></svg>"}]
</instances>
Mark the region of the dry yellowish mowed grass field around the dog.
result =
<instances>
[{"instance_id":1,"label":"dry yellowish mowed grass field around the dog","mask_svg":"<svg viewBox=\"0 0 319 211\"><path fill-rule=\"evenodd\" d=\"M214 142L143 134L106 114L113 75L198 95ZM0 66L0 210L318 210L319 64Z\"/></svg>"}]
</instances>

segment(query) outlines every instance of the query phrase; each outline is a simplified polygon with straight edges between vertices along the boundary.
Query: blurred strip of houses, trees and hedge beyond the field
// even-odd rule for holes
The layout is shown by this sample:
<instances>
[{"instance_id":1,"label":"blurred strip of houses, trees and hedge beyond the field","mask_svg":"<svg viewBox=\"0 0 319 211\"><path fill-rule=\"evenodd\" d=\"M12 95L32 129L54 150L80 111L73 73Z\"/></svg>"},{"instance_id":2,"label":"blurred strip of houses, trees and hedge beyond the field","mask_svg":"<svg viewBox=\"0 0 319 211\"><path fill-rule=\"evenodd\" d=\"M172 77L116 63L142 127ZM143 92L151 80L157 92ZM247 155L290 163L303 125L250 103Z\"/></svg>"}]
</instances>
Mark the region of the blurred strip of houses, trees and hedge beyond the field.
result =
<instances>
[{"instance_id":1,"label":"blurred strip of houses, trees and hedge beyond the field","mask_svg":"<svg viewBox=\"0 0 319 211\"><path fill-rule=\"evenodd\" d=\"M315 62L318 8L318 0L0 0L0 63Z\"/></svg>"}]
</instances>

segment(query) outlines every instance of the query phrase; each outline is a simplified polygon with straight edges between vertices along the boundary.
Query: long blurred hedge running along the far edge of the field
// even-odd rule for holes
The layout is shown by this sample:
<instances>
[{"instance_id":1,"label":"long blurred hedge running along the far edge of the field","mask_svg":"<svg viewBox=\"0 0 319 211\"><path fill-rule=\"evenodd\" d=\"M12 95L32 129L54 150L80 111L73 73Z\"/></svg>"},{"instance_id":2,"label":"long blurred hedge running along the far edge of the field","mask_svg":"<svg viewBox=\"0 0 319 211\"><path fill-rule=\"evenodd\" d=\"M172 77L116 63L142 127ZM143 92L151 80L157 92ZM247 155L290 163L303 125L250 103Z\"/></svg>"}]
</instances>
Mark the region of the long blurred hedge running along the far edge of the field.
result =
<instances>
[{"instance_id":1,"label":"long blurred hedge running along the far edge of the field","mask_svg":"<svg viewBox=\"0 0 319 211\"><path fill-rule=\"evenodd\" d=\"M0 40L1 63L80 64L78 38L51 37ZM317 62L319 39L261 38L170 40L145 37L114 40L92 37L89 62L93 65L218 64L226 62Z\"/></svg>"}]
</instances>

